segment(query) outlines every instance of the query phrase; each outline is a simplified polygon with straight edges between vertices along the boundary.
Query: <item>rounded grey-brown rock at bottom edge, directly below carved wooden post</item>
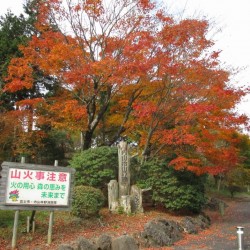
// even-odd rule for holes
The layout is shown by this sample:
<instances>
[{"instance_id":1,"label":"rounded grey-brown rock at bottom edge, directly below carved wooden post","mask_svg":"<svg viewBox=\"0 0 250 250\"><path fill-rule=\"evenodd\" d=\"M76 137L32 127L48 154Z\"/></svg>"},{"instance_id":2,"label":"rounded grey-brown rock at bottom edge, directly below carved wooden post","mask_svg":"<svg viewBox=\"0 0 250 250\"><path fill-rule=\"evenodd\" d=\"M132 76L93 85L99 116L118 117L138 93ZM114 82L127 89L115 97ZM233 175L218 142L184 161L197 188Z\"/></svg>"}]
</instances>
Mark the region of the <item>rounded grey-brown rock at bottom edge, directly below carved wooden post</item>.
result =
<instances>
[{"instance_id":1,"label":"rounded grey-brown rock at bottom edge, directly below carved wooden post","mask_svg":"<svg viewBox=\"0 0 250 250\"><path fill-rule=\"evenodd\" d=\"M112 250L138 250L135 239L129 235L122 235L112 241Z\"/></svg>"}]
</instances>

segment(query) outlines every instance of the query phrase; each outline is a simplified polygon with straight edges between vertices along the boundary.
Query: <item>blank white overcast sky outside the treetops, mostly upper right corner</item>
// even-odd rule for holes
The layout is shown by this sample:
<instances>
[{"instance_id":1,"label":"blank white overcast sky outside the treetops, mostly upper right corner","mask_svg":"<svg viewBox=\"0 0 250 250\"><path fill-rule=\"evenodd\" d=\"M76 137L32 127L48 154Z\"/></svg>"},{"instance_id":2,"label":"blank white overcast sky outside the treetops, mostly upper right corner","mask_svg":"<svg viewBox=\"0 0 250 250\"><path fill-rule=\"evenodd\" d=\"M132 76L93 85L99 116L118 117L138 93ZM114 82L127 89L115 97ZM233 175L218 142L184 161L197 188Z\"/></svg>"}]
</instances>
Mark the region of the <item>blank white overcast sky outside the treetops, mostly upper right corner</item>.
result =
<instances>
[{"instance_id":1,"label":"blank white overcast sky outside the treetops, mostly upper right corner","mask_svg":"<svg viewBox=\"0 0 250 250\"><path fill-rule=\"evenodd\" d=\"M250 0L158 0L167 4L175 15L206 17L221 28L214 39L222 50L221 61L234 68L246 68L238 74L241 85L250 87ZM22 12L24 0L1 0L0 15L10 9ZM250 96L239 107L240 113L250 117Z\"/></svg>"}]
</instances>

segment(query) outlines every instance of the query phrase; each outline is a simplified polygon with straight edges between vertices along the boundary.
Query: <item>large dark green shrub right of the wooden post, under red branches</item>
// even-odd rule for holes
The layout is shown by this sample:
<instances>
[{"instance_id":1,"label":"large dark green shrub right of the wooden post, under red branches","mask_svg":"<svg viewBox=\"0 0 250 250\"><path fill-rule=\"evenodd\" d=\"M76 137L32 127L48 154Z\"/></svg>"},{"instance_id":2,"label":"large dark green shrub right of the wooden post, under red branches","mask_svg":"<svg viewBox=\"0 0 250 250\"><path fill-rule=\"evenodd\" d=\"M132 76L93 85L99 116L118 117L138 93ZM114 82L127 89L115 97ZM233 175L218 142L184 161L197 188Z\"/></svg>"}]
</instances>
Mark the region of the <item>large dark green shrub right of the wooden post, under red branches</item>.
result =
<instances>
[{"instance_id":1,"label":"large dark green shrub right of the wooden post, under red branches","mask_svg":"<svg viewBox=\"0 0 250 250\"><path fill-rule=\"evenodd\" d=\"M206 176L197 176L189 171L176 171L165 162L147 162L142 171L147 173L140 185L151 186L153 200L172 211L198 213L206 203Z\"/></svg>"}]
</instances>

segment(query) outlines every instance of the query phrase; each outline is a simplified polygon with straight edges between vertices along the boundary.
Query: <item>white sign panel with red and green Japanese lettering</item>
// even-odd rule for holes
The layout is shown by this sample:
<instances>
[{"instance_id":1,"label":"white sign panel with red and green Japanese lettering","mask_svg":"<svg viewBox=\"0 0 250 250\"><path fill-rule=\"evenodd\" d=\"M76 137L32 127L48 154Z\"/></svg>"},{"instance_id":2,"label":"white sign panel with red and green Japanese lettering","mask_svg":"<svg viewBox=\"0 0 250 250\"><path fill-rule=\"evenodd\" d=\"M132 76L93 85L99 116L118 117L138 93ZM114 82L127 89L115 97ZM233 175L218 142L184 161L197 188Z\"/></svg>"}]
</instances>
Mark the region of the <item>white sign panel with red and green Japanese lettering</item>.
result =
<instances>
[{"instance_id":1,"label":"white sign panel with red and green Japanese lettering","mask_svg":"<svg viewBox=\"0 0 250 250\"><path fill-rule=\"evenodd\" d=\"M70 173L10 168L6 204L68 206Z\"/></svg>"}]
</instances>

